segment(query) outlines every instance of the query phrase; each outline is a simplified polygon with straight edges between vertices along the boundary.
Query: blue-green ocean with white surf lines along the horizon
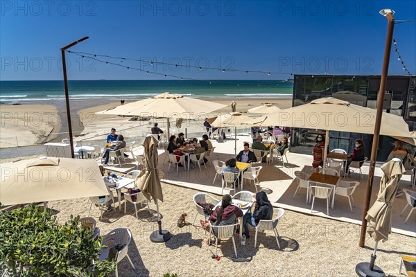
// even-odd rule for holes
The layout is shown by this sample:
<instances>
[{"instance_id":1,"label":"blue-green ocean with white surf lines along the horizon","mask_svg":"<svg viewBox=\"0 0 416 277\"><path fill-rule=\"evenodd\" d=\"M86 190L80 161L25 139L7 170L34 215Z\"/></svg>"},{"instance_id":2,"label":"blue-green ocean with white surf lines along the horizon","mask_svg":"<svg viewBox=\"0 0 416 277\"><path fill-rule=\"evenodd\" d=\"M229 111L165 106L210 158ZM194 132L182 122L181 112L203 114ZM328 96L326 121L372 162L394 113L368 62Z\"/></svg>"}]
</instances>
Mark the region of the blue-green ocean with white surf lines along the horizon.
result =
<instances>
[{"instance_id":1,"label":"blue-green ocean with white surf lines along the horizon","mask_svg":"<svg viewBox=\"0 0 416 277\"><path fill-rule=\"evenodd\" d=\"M179 93L204 98L286 98L293 83L284 80L71 80L71 100L131 100L159 93ZM64 100L64 83L53 81L0 81L2 104Z\"/></svg>"}]
</instances>

